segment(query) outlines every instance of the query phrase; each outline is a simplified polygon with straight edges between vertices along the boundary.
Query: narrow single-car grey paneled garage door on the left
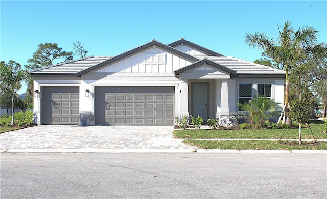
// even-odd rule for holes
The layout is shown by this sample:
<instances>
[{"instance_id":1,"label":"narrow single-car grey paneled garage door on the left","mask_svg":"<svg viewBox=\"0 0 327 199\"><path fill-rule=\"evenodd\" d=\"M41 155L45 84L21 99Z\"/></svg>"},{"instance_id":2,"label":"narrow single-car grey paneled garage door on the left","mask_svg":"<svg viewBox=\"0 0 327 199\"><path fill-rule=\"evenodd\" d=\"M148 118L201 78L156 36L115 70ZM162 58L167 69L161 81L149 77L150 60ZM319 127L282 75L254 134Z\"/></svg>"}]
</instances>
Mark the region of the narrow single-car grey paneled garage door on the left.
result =
<instances>
[{"instance_id":1,"label":"narrow single-car grey paneled garage door on the left","mask_svg":"<svg viewBox=\"0 0 327 199\"><path fill-rule=\"evenodd\" d=\"M79 87L42 87L42 124L79 124Z\"/></svg>"}]
</instances>

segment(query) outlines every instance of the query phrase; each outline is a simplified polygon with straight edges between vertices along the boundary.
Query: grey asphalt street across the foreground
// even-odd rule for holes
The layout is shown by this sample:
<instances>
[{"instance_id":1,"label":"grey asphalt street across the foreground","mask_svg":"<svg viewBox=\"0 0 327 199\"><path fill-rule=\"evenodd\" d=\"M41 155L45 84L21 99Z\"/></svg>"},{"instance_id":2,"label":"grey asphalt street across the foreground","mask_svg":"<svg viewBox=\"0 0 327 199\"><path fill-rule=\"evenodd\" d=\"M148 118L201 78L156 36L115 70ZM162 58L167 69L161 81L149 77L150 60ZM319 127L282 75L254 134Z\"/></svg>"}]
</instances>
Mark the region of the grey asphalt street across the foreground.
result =
<instances>
[{"instance_id":1,"label":"grey asphalt street across the foreground","mask_svg":"<svg viewBox=\"0 0 327 199\"><path fill-rule=\"evenodd\" d=\"M327 198L325 154L2 153L1 198Z\"/></svg>"}]
</instances>

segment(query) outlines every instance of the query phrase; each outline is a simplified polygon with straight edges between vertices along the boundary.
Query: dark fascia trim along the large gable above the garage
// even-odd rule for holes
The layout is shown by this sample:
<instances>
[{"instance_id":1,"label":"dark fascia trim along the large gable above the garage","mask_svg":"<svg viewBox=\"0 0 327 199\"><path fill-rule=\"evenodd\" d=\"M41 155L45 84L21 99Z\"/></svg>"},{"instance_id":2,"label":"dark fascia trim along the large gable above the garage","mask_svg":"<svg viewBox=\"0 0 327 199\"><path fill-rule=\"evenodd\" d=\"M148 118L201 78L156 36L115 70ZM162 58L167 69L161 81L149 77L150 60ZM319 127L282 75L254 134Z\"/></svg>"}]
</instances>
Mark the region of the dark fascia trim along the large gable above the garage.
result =
<instances>
[{"instance_id":1,"label":"dark fascia trim along the large gable above the garage","mask_svg":"<svg viewBox=\"0 0 327 199\"><path fill-rule=\"evenodd\" d=\"M160 43L160 42L157 42L156 40L153 40L153 41L151 41L149 43L146 43L146 44L144 44L142 46L139 46L137 48L134 48L134 49L132 49L130 51L127 51L127 52L124 52L124 53L122 53L120 55L114 56L113 58L111 58L111 59L109 59L107 61L104 61L104 62L102 62L100 64L97 64L95 66L89 67L89 68L87 68L85 70L82 70L80 72L77 72L77 73L75 73L75 75L76 76L81 76L81 75L83 75L83 74L85 74L87 72L90 72L92 70L96 70L96 69L98 69L98 68L100 68L102 66L105 66L107 64L110 64L110 63L115 62L115 61L118 61L118 60L121 60L121 59L125 58L126 56L129 56L131 54L134 54L136 52L139 52L141 50L144 50L144 49L146 49L146 48L148 48L150 46L153 46L153 45L156 45L156 46L158 46L160 48L163 48L165 50L168 50L168 51L172 52L173 54L177 54L179 56L182 56L183 58L185 58L186 60L191 61L191 62L196 62L196 61L199 60L199 59L195 58L194 56L191 56L189 54L183 53L183 52L181 52L181 51L179 51L179 50L177 50L177 49L175 49L173 47L167 46L167 45L165 45L163 43Z\"/></svg>"}]
</instances>

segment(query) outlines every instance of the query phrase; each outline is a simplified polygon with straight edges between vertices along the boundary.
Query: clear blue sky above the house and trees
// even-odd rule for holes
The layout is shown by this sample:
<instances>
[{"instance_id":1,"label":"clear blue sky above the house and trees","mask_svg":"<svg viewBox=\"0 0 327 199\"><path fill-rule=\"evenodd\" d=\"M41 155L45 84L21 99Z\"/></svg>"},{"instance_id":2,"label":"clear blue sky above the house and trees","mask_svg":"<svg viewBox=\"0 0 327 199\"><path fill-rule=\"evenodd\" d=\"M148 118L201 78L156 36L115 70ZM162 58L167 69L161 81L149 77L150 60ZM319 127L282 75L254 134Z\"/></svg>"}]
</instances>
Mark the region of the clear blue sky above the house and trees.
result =
<instances>
[{"instance_id":1,"label":"clear blue sky above the house and trees","mask_svg":"<svg viewBox=\"0 0 327 199\"><path fill-rule=\"evenodd\" d=\"M153 39L169 44L180 38L254 61L262 51L245 44L246 33L277 38L287 20L294 29L314 27L318 42L327 43L327 1L0 0L0 61L24 66L41 43L74 51L80 41L88 56L114 56Z\"/></svg>"}]
</instances>

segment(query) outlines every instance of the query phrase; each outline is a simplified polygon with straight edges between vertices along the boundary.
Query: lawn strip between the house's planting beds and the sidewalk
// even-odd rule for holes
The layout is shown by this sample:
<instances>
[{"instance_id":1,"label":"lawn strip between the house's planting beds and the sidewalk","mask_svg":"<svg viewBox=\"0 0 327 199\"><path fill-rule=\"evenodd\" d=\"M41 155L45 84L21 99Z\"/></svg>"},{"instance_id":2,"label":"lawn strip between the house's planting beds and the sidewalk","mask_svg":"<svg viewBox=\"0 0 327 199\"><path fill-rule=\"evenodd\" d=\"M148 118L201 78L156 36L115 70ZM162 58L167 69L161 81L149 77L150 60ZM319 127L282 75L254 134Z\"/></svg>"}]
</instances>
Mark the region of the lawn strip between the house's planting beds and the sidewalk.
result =
<instances>
[{"instance_id":1,"label":"lawn strip between the house's planting beds and the sidewalk","mask_svg":"<svg viewBox=\"0 0 327 199\"><path fill-rule=\"evenodd\" d=\"M322 133L322 124L310 124L312 132L316 139L327 139L327 134ZM285 129L244 129L244 130L204 130L204 129L187 129L174 130L175 138L184 139L223 139L223 138L248 138L248 139L279 139ZM297 139L298 129L286 129L283 138ZM302 139L313 139L310 128L302 129Z\"/></svg>"}]
</instances>

